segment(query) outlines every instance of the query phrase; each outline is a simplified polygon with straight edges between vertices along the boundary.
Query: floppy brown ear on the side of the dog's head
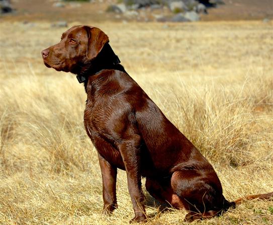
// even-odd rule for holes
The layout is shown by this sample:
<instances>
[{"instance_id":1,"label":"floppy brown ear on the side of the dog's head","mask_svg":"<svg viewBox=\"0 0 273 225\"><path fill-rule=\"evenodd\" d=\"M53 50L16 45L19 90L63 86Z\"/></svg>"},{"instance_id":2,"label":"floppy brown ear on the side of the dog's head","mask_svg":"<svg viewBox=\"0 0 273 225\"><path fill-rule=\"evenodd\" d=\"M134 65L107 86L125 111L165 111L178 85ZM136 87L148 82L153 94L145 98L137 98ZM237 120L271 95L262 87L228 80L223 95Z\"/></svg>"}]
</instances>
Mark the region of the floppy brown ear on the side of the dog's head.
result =
<instances>
[{"instance_id":1,"label":"floppy brown ear on the side of the dog's head","mask_svg":"<svg viewBox=\"0 0 273 225\"><path fill-rule=\"evenodd\" d=\"M97 27L84 26L87 32L88 44L86 47L86 56L89 60L95 59L103 46L109 42L108 36Z\"/></svg>"}]
</instances>

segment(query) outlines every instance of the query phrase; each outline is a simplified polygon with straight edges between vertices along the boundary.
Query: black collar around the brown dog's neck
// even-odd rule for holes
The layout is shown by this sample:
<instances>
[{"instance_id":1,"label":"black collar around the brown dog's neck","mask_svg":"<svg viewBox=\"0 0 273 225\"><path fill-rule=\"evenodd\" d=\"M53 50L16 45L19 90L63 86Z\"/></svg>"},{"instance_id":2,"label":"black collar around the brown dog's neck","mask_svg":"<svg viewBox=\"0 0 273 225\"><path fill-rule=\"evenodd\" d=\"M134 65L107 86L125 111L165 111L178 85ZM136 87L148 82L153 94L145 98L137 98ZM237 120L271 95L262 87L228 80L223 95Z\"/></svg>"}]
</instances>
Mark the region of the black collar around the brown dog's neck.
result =
<instances>
[{"instance_id":1,"label":"black collar around the brown dog's neck","mask_svg":"<svg viewBox=\"0 0 273 225\"><path fill-rule=\"evenodd\" d=\"M109 43L106 43L98 57L93 60L92 66L86 71L86 73L78 74L77 80L79 83L83 83L88 80L89 76L96 75L103 70L115 69L116 65L120 64L118 55L115 54Z\"/></svg>"}]
</instances>

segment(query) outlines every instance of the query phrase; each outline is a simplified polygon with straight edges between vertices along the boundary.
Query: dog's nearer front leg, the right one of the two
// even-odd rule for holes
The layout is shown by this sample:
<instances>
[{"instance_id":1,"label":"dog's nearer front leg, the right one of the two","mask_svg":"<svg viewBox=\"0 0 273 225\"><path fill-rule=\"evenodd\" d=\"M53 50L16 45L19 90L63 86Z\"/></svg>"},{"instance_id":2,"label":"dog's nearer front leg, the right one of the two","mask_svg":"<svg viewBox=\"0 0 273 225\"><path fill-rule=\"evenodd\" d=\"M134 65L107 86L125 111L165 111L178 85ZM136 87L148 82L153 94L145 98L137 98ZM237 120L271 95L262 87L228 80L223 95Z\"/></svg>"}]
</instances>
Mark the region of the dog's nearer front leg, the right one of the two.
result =
<instances>
[{"instance_id":1,"label":"dog's nearer front leg, the right one of the two","mask_svg":"<svg viewBox=\"0 0 273 225\"><path fill-rule=\"evenodd\" d=\"M141 188L140 142L140 136L133 135L119 145L127 173L129 194L135 212L135 217L130 222L142 222L146 220L144 194Z\"/></svg>"}]
</instances>

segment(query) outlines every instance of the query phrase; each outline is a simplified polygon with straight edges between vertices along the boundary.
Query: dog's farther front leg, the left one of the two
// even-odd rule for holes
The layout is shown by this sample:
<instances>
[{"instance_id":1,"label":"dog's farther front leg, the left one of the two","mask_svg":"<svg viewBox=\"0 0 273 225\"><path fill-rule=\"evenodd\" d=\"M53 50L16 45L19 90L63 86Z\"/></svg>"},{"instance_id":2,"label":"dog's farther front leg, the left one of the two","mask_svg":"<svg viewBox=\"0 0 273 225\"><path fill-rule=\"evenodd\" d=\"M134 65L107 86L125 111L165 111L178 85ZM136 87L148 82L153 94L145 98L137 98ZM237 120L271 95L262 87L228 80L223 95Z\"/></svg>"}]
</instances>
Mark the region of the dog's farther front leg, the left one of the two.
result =
<instances>
[{"instance_id":1,"label":"dog's farther front leg, the left one of the two","mask_svg":"<svg viewBox=\"0 0 273 225\"><path fill-rule=\"evenodd\" d=\"M116 196L117 167L112 166L98 153L103 177L104 213L113 212L118 207Z\"/></svg>"}]
</instances>

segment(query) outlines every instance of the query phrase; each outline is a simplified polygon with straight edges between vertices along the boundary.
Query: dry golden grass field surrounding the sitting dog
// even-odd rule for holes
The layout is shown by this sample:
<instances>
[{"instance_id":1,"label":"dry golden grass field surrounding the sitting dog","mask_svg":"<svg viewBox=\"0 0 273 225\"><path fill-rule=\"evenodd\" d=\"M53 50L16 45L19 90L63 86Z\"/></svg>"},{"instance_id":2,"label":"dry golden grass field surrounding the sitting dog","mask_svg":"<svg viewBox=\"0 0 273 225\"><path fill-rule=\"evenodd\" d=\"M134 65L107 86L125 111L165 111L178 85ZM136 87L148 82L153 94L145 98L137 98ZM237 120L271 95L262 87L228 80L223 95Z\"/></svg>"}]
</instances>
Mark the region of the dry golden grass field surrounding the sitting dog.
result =
<instances>
[{"instance_id":1,"label":"dry golden grass field surrounding the sitting dog","mask_svg":"<svg viewBox=\"0 0 273 225\"><path fill-rule=\"evenodd\" d=\"M109 35L127 72L213 164L228 200L273 191L271 22L92 25ZM1 23L0 224L127 224L133 209L123 171L119 208L101 213L83 86L42 62L40 51L63 31L46 22ZM147 224L184 223L186 211L163 210L145 193ZM273 224L273 201L245 201L192 224Z\"/></svg>"}]
</instances>

